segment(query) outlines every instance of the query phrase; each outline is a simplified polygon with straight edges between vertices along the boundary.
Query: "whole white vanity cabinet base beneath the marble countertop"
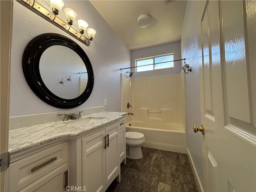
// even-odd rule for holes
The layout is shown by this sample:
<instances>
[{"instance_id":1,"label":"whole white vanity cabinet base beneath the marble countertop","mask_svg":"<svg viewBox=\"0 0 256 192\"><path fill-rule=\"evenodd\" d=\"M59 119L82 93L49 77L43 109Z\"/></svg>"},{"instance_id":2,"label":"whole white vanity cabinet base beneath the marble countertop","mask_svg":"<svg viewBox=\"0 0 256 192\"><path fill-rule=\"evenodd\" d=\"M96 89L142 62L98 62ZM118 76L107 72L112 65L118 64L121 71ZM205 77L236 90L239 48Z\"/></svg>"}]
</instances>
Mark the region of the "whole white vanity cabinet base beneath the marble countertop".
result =
<instances>
[{"instance_id":1,"label":"whole white vanity cabinet base beneath the marble countertop","mask_svg":"<svg viewBox=\"0 0 256 192\"><path fill-rule=\"evenodd\" d=\"M124 118L114 119L87 131L85 126L75 137L13 153L8 191L106 191L115 178L120 181L120 162L126 157Z\"/></svg>"}]
</instances>

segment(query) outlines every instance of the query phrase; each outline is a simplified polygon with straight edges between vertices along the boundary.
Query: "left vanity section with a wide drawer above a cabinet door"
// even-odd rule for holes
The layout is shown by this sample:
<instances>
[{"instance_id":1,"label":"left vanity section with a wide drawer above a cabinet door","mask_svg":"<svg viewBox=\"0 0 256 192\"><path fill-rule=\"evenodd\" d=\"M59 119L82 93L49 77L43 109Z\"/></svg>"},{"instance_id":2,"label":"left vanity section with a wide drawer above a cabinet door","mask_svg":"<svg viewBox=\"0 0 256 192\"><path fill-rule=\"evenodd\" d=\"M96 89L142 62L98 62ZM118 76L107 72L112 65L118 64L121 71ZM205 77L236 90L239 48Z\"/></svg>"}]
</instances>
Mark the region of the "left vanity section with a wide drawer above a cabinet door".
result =
<instances>
[{"instance_id":1,"label":"left vanity section with a wide drawer above a cabinet door","mask_svg":"<svg viewBox=\"0 0 256 192\"><path fill-rule=\"evenodd\" d=\"M12 162L9 191L65 191L68 142L52 146Z\"/></svg>"}]
</instances>

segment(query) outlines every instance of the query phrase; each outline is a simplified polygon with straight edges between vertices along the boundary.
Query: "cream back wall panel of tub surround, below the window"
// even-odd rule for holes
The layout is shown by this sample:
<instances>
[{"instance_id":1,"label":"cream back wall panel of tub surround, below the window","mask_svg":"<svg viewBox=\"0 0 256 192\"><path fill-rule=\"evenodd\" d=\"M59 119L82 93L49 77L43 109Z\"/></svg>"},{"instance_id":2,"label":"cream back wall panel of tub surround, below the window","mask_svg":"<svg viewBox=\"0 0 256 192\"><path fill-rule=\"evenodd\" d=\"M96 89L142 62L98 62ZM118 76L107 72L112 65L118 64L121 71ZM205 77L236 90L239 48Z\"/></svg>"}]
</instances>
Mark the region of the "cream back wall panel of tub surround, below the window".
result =
<instances>
[{"instance_id":1,"label":"cream back wall panel of tub surround, below the window","mask_svg":"<svg viewBox=\"0 0 256 192\"><path fill-rule=\"evenodd\" d=\"M185 102L181 83L180 74L132 78L132 120L149 124L184 124Z\"/></svg>"}]
</instances>

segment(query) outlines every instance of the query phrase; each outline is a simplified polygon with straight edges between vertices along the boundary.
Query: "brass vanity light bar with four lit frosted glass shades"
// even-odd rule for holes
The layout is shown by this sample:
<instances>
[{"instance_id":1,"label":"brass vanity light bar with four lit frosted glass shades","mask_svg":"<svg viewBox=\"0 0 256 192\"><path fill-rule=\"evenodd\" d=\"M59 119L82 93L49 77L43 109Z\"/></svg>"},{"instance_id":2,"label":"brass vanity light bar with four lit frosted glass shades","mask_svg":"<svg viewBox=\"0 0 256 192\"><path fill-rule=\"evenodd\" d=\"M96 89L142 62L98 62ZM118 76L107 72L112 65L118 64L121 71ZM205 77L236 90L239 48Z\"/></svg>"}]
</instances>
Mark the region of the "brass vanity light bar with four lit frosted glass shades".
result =
<instances>
[{"instance_id":1,"label":"brass vanity light bar with four lit frosted glass shades","mask_svg":"<svg viewBox=\"0 0 256 192\"><path fill-rule=\"evenodd\" d=\"M62 10L62 7L64 6L63 0L50 0L51 10L48 10L36 0L16 1L24 5L26 8L32 10L45 20L48 20L48 22L64 30L66 33L70 34L72 37L76 38L77 40L79 40L87 46L90 45L92 39L96 34L96 30L92 28L87 28L88 23L85 21L83 21L82 23L80 22L80 20L78 21L78 29L73 27L77 13L71 8L64 8L64 11L66 13L66 20L62 20L61 18L58 17L59 13ZM88 36L84 35L86 29Z\"/></svg>"}]
</instances>

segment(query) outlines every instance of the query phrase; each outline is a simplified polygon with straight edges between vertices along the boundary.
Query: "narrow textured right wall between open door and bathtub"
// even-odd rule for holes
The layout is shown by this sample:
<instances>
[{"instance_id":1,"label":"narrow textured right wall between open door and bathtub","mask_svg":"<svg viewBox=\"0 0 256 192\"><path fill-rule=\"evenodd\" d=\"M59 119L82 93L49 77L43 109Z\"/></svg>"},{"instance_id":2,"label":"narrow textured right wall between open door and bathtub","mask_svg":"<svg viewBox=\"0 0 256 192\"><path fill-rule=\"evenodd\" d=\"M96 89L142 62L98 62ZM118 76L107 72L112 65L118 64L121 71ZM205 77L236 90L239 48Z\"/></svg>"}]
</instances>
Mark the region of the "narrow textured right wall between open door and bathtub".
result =
<instances>
[{"instance_id":1,"label":"narrow textured right wall between open door and bathtub","mask_svg":"<svg viewBox=\"0 0 256 192\"><path fill-rule=\"evenodd\" d=\"M182 58L192 66L192 72L185 75L186 83L186 138L196 171L203 183L202 134L195 134L193 125L201 125L199 68L202 65L201 50L198 49L196 1L188 1L181 38Z\"/></svg>"}]
</instances>

